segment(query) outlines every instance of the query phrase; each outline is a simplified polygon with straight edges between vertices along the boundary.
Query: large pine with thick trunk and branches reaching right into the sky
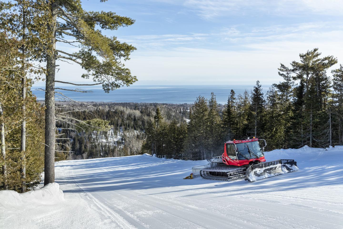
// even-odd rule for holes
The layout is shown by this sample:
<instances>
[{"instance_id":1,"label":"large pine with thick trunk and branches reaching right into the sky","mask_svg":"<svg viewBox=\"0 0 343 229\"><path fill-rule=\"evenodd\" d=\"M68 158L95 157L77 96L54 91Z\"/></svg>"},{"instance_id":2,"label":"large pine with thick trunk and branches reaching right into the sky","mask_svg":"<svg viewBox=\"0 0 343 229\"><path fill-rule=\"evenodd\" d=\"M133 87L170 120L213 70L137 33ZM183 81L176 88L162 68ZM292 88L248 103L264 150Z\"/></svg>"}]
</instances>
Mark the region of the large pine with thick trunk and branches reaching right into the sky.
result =
<instances>
[{"instance_id":1,"label":"large pine with thick trunk and branches reaching right into the sky","mask_svg":"<svg viewBox=\"0 0 343 229\"><path fill-rule=\"evenodd\" d=\"M66 90L55 88L55 82L86 85L56 80L56 60L71 61L80 65L87 72L81 77L92 78L95 83L91 85L102 84L105 92L123 85L128 86L137 80L136 77L131 76L130 70L125 68L121 61L128 60L135 48L127 43L120 43L116 37L104 36L96 29L100 27L103 30L117 30L118 27L132 25L134 20L114 12L85 11L78 0L51 1L49 11L51 20L47 26L50 39L46 49L45 87L45 185L55 180L55 89ZM59 50L56 48L57 42L76 45L79 50L74 53L69 50ZM59 118L68 120L69 117L59 115Z\"/></svg>"}]
</instances>

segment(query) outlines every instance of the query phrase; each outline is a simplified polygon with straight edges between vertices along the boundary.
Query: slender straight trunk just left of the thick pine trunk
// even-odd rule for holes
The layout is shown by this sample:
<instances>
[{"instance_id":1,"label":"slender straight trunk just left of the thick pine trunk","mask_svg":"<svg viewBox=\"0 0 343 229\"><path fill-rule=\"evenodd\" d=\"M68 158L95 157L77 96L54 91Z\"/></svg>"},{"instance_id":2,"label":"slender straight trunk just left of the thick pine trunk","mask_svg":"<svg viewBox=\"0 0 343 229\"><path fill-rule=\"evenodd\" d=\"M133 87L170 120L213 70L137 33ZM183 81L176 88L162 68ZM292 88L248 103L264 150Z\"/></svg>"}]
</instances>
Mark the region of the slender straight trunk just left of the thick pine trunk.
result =
<instances>
[{"instance_id":1,"label":"slender straight trunk just left of the thick pine trunk","mask_svg":"<svg viewBox=\"0 0 343 229\"><path fill-rule=\"evenodd\" d=\"M23 10L23 41L25 42L26 39L26 12ZM22 100L23 100L23 106L22 106L22 112L23 112L23 121L21 125L21 142L20 142L20 151L22 154L22 157L20 158L21 161L21 167L20 167L20 176L22 180L22 187L21 191L26 191L26 107L25 107L25 99L26 99L26 71L25 71L25 44L22 45L22 54L23 54L23 76L22 76Z\"/></svg>"}]
</instances>

